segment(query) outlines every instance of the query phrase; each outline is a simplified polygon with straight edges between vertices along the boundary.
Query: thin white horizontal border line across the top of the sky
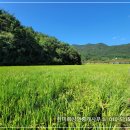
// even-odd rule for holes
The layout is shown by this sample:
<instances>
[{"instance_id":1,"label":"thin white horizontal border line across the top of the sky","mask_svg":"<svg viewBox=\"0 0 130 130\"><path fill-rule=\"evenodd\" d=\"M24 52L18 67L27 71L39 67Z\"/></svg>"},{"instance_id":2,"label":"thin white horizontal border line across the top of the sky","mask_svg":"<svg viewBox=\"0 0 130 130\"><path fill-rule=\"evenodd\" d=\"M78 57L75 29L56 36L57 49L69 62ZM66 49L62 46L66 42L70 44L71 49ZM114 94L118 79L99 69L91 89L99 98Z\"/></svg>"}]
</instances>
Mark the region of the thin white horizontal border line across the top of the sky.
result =
<instances>
[{"instance_id":1,"label":"thin white horizontal border line across the top of the sky","mask_svg":"<svg viewBox=\"0 0 130 130\"><path fill-rule=\"evenodd\" d=\"M130 4L130 2L0 2L0 4Z\"/></svg>"}]
</instances>

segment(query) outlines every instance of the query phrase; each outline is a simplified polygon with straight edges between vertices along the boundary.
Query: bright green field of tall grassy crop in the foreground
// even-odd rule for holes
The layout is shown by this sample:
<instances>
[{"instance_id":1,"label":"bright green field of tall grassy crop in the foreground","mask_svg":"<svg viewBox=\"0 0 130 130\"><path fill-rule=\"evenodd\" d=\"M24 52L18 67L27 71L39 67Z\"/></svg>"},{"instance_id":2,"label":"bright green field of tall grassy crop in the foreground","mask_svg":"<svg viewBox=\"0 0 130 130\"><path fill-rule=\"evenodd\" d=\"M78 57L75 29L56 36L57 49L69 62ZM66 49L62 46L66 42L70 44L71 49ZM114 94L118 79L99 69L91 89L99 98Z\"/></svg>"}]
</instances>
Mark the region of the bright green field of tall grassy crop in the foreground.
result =
<instances>
[{"instance_id":1,"label":"bright green field of tall grassy crop in the foreground","mask_svg":"<svg viewBox=\"0 0 130 130\"><path fill-rule=\"evenodd\" d=\"M111 116L130 116L130 65L0 67L0 127L130 127L57 120Z\"/></svg>"}]
</instances>

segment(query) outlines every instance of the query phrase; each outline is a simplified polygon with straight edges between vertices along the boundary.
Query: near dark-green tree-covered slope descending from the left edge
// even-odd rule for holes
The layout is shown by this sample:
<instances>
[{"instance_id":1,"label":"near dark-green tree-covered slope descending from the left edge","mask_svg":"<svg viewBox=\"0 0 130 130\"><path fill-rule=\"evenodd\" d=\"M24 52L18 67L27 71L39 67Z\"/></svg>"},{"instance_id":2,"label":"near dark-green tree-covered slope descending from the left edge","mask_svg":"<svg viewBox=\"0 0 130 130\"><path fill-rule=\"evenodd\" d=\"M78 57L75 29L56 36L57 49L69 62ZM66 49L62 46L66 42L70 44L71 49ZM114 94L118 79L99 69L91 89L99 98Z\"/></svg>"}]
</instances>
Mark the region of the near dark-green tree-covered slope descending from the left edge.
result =
<instances>
[{"instance_id":1,"label":"near dark-green tree-covered slope descending from the left edge","mask_svg":"<svg viewBox=\"0 0 130 130\"><path fill-rule=\"evenodd\" d=\"M25 27L0 10L0 65L53 64L81 64L81 58L68 44Z\"/></svg>"}]
</instances>

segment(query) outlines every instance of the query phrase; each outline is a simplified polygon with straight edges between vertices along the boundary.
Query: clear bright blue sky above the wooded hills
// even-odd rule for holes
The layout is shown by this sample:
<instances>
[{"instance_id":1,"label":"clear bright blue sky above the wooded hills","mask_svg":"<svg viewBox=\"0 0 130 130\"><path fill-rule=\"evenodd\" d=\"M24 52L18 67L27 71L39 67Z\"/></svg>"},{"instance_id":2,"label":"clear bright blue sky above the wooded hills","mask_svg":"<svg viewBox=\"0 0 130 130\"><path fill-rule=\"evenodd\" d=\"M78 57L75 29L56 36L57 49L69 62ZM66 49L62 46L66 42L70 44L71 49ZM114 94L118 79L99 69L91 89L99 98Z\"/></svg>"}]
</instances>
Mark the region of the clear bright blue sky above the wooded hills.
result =
<instances>
[{"instance_id":1,"label":"clear bright blue sky above the wooded hills","mask_svg":"<svg viewBox=\"0 0 130 130\"><path fill-rule=\"evenodd\" d=\"M130 43L130 4L0 4L0 8L23 25L70 44Z\"/></svg>"}]
</instances>

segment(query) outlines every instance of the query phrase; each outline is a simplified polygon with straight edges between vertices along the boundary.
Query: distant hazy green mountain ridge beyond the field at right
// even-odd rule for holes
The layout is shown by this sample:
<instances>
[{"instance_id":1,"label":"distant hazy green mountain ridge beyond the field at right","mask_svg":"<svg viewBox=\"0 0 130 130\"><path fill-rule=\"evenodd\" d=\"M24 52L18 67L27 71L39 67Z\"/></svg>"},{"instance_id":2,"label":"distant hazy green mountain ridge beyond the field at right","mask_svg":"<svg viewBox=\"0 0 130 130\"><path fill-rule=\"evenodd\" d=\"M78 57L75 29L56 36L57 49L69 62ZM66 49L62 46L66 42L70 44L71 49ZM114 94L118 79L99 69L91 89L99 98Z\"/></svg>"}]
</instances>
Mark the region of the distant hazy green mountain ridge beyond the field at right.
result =
<instances>
[{"instance_id":1,"label":"distant hazy green mountain ridge beyond the field at right","mask_svg":"<svg viewBox=\"0 0 130 130\"><path fill-rule=\"evenodd\" d=\"M81 54L84 61L111 61L114 59L126 61L126 59L130 59L130 44L108 46L98 43L73 46Z\"/></svg>"}]
</instances>

